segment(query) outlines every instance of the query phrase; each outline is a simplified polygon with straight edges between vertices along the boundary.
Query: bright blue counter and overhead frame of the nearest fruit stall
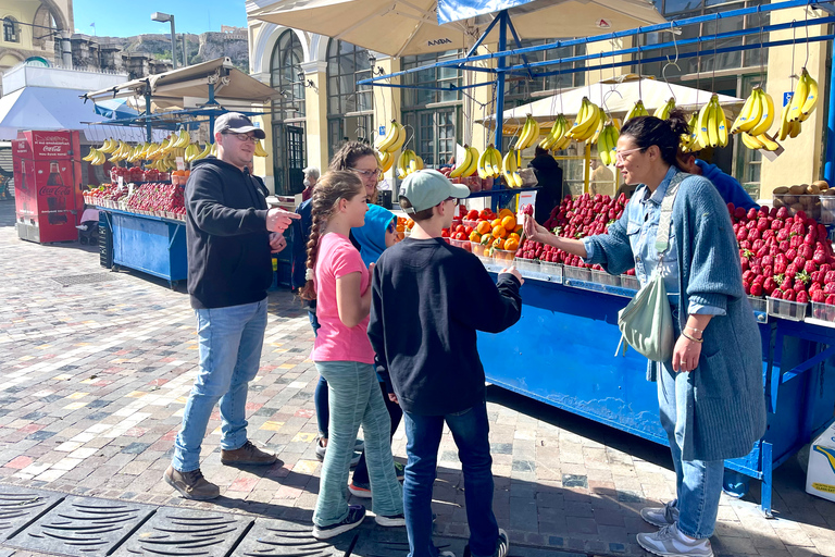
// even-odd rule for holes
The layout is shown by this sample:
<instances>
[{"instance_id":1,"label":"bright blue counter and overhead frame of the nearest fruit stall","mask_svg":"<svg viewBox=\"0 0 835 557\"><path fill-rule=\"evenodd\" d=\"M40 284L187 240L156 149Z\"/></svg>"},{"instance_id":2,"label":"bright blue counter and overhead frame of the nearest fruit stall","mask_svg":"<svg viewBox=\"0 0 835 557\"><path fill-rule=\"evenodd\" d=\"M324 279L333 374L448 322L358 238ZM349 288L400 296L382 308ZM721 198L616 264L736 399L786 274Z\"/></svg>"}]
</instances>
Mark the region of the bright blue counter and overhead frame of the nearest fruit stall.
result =
<instances>
[{"instance_id":1,"label":"bright blue counter and overhead frame of the nearest fruit stall","mask_svg":"<svg viewBox=\"0 0 835 557\"><path fill-rule=\"evenodd\" d=\"M360 85L410 87L401 85L403 76L436 67L461 69L488 74L490 81L463 86L421 85L434 90L459 90L497 83L496 120L501 123L503 91L507 76L537 78L573 72L612 69L624 65L669 61L666 53L675 50L678 58L713 57L716 54L761 49L793 44L832 41L835 34L809 36L810 26L824 27L835 23L833 1L788 0L771 4L731 10L686 20L616 30L593 37L560 40L521 48L519 35L511 22L514 13L537 0L513 0L502 5L491 23L464 58L447 60L402 72L374 76L358 82ZM484 14L496 2L489 0L438 0L438 21L452 22ZM683 26L715 22L728 17L773 12L790 8L818 8L823 17L808 17L773 25L746 27L696 36L690 39L650 41L640 47L613 48L572 58L556 58L529 63L526 54L549 49L615 41L647 33L675 33ZM481 11L479 11L481 10ZM486 11L485 11L486 10ZM516 10L516 12L514 12ZM495 11L495 10L494 10ZM529 11L535 11L531 8ZM498 51L476 55L476 48L488 34L498 28ZM806 29L789 40L765 40L772 30ZM516 48L508 49L509 34ZM718 47L719 41L750 37L740 45ZM753 40L751 40L753 39ZM726 44L726 42L725 42ZM678 48L689 45L688 52ZM522 63L507 65L509 55ZM637 55L638 60L633 60ZM620 57L620 58L619 58ZM495 67L487 62L496 61ZM578 62L585 62L578 64ZM548 66L574 65L571 70L549 70ZM495 81L494 81L495 77ZM828 135L824 177L835 183L835 72L831 72L828 87ZM502 125L496 125L494 144L502 150ZM507 196L512 190L498 190L489 195ZM493 273L499 267L489 260L486 267ZM624 432L666 444L666 435L658 419L656 385L645 379L646 359L634 351L614 357L620 339L618 311L626 306L634 289L623 285L634 281L622 277L599 276L587 270L556 264L522 261L520 269L526 277L522 287L523 310L521 321L508 331L491 335L479 334L484 348L485 372L488 381L558 408L606 423ZM806 307L798 312L784 312L777 306L767 307L764 300L751 300L762 339L763 396L768 406L768 431L751 453L744 458L725 462L725 487L736 495L747 490L748 479L762 482L761 509L771 516L773 470L790 458L818 432L833 421L835 410L835 323L818 321L806 315ZM771 302L770 302L771 304Z\"/></svg>"}]
</instances>

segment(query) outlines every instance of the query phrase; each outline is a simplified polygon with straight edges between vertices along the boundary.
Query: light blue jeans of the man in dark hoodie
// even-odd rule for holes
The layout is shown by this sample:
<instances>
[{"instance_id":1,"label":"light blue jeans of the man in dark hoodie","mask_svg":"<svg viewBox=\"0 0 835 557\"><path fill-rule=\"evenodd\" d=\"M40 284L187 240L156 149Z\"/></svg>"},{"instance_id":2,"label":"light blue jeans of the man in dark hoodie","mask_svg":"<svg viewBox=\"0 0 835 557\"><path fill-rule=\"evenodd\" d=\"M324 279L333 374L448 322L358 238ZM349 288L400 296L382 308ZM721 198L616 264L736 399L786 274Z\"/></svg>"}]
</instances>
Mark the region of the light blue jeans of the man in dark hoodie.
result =
<instances>
[{"instance_id":1,"label":"light blue jeans of the man in dark hoodie","mask_svg":"<svg viewBox=\"0 0 835 557\"><path fill-rule=\"evenodd\" d=\"M214 405L221 403L221 448L247 442L247 386L258 374L266 329L266 298L228 308L198 309L200 367L174 442L172 466L200 468L200 445Z\"/></svg>"}]
</instances>

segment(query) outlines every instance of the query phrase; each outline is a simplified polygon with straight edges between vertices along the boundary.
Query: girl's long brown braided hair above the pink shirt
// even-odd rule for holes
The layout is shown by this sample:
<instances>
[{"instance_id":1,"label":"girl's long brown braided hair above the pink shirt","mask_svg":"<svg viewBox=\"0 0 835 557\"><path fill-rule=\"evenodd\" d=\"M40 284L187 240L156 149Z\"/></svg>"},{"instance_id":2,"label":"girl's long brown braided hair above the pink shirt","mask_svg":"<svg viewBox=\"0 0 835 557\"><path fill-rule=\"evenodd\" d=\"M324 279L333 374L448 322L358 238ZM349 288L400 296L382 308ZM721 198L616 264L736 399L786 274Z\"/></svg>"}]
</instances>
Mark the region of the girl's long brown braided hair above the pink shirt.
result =
<instances>
[{"instance_id":1,"label":"girl's long brown braided hair above the pink shirt","mask_svg":"<svg viewBox=\"0 0 835 557\"><path fill-rule=\"evenodd\" d=\"M308 240L307 268L311 271L316 265L319 240L322 237L322 232L333 216L337 203L340 199L351 199L360 194L365 195L365 188L360 176L350 171L331 171L316 182L316 187L313 188L313 195L310 198L310 214L313 224L310 227L310 239ZM316 287L312 280L304 283L299 295L304 300L316 299Z\"/></svg>"}]
</instances>

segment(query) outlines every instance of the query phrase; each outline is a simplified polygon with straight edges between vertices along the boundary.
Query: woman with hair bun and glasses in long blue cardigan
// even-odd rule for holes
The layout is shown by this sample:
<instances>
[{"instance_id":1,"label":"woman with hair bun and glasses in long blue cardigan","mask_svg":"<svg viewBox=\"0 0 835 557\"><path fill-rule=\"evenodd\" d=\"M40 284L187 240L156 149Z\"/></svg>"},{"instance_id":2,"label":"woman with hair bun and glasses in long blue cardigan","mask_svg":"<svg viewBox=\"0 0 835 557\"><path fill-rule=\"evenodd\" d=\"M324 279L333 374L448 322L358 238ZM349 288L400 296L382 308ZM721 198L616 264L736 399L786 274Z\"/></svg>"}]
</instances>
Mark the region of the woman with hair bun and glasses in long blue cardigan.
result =
<instances>
[{"instance_id":1,"label":"woman with hair bun and glasses in long blue cardigan","mask_svg":"<svg viewBox=\"0 0 835 557\"><path fill-rule=\"evenodd\" d=\"M765 432L762 348L743 289L741 269L727 208L705 177L678 177L676 153L684 115L641 116L621 131L615 166L626 184L639 184L608 234L560 238L525 218L525 234L621 274L635 268L641 285L661 264L675 327L673 357L649 362L658 383L661 424L676 473L676 499L640 516L661 528L638 543L661 556L709 557L722 492L723 460L743 457ZM656 250L661 201L680 183L668 250ZM659 263L660 259L660 263Z\"/></svg>"}]
</instances>

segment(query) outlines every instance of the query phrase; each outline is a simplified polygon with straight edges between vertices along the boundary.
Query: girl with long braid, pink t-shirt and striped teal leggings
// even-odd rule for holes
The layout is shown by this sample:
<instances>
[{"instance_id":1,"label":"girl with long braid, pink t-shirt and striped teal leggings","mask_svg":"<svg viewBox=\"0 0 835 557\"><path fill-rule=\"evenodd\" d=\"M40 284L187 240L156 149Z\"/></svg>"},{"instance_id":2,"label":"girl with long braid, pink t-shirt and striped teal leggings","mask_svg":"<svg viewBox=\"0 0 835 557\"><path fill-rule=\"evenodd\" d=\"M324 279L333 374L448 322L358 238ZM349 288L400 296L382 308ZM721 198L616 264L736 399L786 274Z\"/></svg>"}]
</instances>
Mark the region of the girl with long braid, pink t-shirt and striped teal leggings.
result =
<instances>
[{"instance_id":1,"label":"girl with long braid, pink t-shirt and striped teal leggings","mask_svg":"<svg viewBox=\"0 0 835 557\"><path fill-rule=\"evenodd\" d=\"M346 485L360 425L371 476L376 522L406 525L402 487L391 466L390 420L374 371L374 350L366 329L371 276L360 252L348 239L362 226L369 206L362 181L352 172L335 171L316 183L312 197L313 225L308 243L308 282L302 297L316 300L321 329L311 359L327 381L327 453L322 465L313 535L333 537L360 525L361 505L348 506Z\"/></svg>"}]
</instances>

